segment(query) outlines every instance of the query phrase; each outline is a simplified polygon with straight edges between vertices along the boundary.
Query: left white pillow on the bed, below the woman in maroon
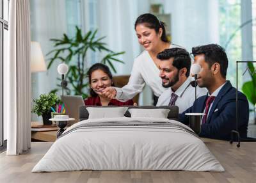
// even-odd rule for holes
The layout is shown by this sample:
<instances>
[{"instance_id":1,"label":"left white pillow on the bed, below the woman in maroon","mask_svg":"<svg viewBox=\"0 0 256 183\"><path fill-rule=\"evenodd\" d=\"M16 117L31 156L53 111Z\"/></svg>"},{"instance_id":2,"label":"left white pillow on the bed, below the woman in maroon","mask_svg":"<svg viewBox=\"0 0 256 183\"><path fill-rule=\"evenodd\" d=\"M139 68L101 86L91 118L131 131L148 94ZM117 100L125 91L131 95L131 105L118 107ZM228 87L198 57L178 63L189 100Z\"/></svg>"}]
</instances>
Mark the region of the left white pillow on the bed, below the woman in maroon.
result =
<instances>
[{"instance_id":1,"label":"left white pillow on the bed, below the woman in maroon","mask_svg":"<svg viewBox=\"0 0 256 183\"><path fill-rule=\"evenodd\" d=\"M128 107L86 107L89 119L125 117Z\"/></svg>"}]
</instances>

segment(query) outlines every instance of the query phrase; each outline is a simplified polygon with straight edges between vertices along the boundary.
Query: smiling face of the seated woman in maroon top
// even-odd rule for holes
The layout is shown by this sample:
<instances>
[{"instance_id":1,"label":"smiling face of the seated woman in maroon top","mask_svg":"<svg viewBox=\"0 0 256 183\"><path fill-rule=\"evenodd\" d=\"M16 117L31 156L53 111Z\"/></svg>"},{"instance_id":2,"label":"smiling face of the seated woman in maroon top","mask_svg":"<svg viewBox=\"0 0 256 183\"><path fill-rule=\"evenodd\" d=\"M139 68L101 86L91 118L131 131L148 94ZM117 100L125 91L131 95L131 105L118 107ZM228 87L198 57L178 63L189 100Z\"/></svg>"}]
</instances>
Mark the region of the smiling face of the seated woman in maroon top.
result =
<instances>
[{"instance_id":1,"label":"smiling face of the seated woman in maroon top","mask_svg":"<svg viewBox=\"0 0 256 183\"><path fill-rule=\"evenodd\" d=\"M98 95L102 95L102 90L104 90L108 86L111 86L111 83L112 81L109 78L108 74L106 74L102 70L98 69L92 72L90 86Z\"/></svg>"}]
</instances>

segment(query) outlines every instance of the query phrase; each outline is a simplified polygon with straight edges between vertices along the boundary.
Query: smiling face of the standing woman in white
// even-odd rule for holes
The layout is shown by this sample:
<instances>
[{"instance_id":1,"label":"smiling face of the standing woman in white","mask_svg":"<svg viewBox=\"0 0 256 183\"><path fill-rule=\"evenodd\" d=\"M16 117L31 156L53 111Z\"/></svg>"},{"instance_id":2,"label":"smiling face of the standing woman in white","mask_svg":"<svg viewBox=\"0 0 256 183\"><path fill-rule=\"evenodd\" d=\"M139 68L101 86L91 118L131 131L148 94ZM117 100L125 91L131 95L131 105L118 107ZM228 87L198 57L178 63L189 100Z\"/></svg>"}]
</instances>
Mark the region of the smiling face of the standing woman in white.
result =
<instances>
[{"instance_id":1,"label":"smiling face of the standing woman in white","mask_svg":"<svg viewBox=\"0 0 256 183\"><path fill-rule=\"evenodd\" d=\"M145 24L138 24L135 30L139 43L147 51L152 51L161 42L162 29L156 33L155 29L147 28Z\"/></svg>"}]
</instances>

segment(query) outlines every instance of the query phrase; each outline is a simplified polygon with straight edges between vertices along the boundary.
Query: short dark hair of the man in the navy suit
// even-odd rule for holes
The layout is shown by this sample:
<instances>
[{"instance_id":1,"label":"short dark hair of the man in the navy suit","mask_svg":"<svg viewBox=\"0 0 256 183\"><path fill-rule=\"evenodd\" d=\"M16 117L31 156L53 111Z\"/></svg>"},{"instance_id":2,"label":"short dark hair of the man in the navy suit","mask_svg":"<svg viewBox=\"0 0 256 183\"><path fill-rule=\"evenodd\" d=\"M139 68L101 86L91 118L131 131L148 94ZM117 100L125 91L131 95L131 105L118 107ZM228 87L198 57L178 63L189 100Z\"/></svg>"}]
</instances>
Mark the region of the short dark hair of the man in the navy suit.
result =
<instances>
[{"instance_id":1,"label":"short dark hair of the man in the navy suit","mask_svg":"<svg viewBox=\"0 0 256 183\"><path fill-rule=\"evenodd\" d=\"M225 49L218 44L202 45L192 48L193 56L204 54L205 62L208 63L209 68L214 63L220 64L221 76L226 78L228 69L228 58Z\"/></svg>"}]
</instances>

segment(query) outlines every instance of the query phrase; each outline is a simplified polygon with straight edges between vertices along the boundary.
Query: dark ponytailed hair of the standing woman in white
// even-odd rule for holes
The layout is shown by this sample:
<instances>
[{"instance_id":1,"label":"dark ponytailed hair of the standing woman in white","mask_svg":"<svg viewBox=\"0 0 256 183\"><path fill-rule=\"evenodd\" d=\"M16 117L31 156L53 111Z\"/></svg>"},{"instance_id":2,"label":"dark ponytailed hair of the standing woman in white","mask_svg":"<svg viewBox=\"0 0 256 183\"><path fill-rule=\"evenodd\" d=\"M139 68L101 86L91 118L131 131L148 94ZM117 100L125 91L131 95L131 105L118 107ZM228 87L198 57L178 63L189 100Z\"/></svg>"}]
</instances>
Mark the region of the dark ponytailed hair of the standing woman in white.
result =
<instances>
[{"instance_id":1,"label":"dark ponytailed hair of the standing woman in white","mask_svg":"<svg viewBox=\"0 0 256 183\"><path fill-rule=\"evenodd\" d=\"M169 42L168 38L166 36L166 30L164 28L165 24L164 22L161 22L155 15L152 15L150 13L145 13L143 15L140 15L140 17L137 18L134 29L136 29L136 26L138 24L144 24L147 28L154 29L156 33L159 33L159 29L163 29L163 33L161 36L161 40L163 42Z\"/></svg>"}]
</instances>

